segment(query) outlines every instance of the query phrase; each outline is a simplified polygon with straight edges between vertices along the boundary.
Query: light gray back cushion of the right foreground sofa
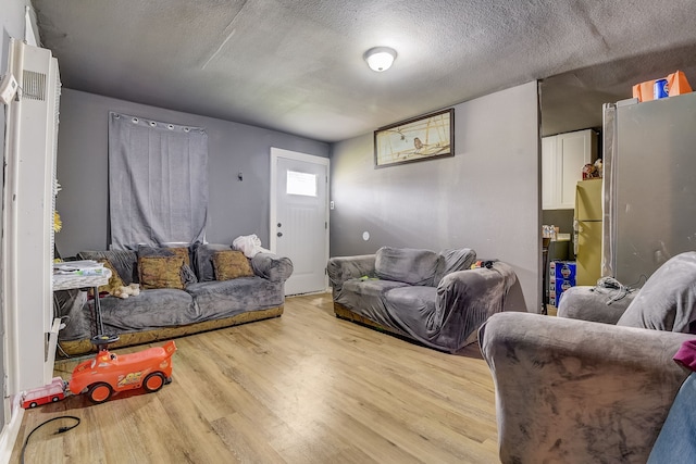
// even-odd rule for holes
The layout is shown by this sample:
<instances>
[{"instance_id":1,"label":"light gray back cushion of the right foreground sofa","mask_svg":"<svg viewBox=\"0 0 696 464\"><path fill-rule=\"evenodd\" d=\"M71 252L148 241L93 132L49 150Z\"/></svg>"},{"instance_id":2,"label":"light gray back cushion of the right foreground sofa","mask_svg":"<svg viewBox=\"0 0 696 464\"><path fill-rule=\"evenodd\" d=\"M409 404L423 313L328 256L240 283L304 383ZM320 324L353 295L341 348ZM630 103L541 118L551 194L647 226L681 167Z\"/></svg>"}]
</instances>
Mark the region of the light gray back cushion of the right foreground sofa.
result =
<instances>
[{"instance_id":1,"label":"light gray back cushion of the right foreground sofa","mask_svg":"<svg viewBox=\"0 0 696 464\"><path fill-rule=\"evenodd\" d=\"M696 334L696 252L662 264L617 325Z\"/></svg>"}]
</instances>

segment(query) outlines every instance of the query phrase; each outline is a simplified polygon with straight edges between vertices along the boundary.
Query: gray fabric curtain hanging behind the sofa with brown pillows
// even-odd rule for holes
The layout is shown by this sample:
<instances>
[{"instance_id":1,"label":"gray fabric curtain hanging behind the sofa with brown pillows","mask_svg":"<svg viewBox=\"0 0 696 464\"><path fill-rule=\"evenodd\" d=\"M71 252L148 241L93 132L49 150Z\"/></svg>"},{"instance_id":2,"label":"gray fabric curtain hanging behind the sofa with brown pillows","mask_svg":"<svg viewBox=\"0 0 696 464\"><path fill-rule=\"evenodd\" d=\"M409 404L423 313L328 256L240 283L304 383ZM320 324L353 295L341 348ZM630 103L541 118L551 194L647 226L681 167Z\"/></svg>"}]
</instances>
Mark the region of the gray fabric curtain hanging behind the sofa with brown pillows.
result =
<instances>
[{"instance_id":1,"label":"gray fabric curtain hanging behind the sofa with brown pillows","mask_svg":"<svg viewBox=\"0 0 696 464\"><path fill-rule=\"evenodd\" d=\"M109 112L111 248L203 241L208 134Z\"/></svg>"}]
</instances>

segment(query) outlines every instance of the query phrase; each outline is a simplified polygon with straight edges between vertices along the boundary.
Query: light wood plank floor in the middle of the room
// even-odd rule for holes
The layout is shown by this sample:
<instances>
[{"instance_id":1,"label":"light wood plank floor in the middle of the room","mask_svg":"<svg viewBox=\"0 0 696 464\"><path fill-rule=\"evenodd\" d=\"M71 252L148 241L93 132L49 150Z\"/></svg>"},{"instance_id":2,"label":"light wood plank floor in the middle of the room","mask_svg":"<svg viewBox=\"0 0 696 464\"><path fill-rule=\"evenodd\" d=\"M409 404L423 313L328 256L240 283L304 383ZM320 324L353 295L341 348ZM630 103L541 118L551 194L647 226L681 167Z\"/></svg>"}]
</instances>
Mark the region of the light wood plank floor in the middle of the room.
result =
<instances>
[{"instance_id":1,"label":"light wood plank floor in the middle of the room","mask_svg":"<svg viewBox=\"0 0 696 464\"><path fill-rule=\"evenodd\" d=\"M12 462L495 463L493 380L477 346L446 354L338 319L331 296L176 339L172 384L26 411ZM144 347L116 350L139 351ZM69 379L76 361L57 364Z\"/></svg>"}]
</instances>

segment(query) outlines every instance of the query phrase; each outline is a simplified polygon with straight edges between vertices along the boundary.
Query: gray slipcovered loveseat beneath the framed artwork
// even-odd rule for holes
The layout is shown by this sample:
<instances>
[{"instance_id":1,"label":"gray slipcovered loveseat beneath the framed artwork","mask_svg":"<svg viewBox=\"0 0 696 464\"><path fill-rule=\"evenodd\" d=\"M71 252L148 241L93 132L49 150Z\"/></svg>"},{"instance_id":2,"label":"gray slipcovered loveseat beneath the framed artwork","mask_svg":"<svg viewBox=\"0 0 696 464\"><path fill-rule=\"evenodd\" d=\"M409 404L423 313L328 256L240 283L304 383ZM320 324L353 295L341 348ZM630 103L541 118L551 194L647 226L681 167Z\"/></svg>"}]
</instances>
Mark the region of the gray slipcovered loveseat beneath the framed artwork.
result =
<instances>
[{"instance_id":1,"label":"gray slipcovered loveseat beneath the framed artwork","mask_svg":"<svg viewBox=\"0 0 696 464\"><path fill-rule=\"evenodd\" d=\"M383 247L375 254L332 258L334 312L437 350L456 352L500 311L526 311L512 268L476 262L475 251Z\"/></svg>"}]
</instances>

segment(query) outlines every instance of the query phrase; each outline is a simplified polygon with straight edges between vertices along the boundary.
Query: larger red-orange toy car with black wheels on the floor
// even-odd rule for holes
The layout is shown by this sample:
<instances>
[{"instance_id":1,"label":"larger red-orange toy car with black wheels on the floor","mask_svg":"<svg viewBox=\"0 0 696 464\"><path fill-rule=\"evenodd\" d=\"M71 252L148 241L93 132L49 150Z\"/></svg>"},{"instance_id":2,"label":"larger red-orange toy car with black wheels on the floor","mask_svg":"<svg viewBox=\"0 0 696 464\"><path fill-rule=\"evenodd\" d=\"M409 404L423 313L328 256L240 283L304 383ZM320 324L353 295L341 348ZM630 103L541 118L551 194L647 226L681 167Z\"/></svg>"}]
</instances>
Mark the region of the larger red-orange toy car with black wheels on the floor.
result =
<instances>
[{"instance_id":1,"label":"larger red-orange toy car with black wheels on the floor","mask_svg":"<svg viewBox=\"0 0 696 464\"><path fill-rule=\"evenodd\" d=\"M95 403L103 403L116 391L145 388L152 392L172 381L172 354L176 351L173 340L163 347L119 354L101 350L94 360L79 363L73 371L70 391L86 392Z\"/></svg>"}]
</instances>

